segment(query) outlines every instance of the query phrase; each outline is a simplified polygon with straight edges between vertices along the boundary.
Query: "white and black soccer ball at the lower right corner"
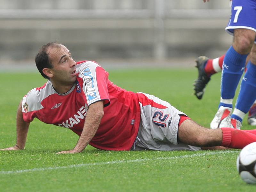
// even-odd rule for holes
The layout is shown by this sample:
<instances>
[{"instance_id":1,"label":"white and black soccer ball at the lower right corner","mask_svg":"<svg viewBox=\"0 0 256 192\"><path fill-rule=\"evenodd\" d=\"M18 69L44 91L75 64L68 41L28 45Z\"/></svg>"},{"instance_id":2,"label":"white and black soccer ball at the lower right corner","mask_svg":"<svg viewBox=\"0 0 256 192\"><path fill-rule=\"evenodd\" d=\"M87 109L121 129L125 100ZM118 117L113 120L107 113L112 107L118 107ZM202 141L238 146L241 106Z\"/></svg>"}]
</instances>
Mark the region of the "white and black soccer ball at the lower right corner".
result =
<instances>
[{"instance_id":1,"label":"white and black soccer ball at the lower right corner","mask_svg":"<svg viewBox=\"0 0 256 192\"><path fill-rule=\"evenodd\" d=\"M236 160L236 169L242 180L256 184L256 142L245 146Z\"/></svg>"}]
</instances>

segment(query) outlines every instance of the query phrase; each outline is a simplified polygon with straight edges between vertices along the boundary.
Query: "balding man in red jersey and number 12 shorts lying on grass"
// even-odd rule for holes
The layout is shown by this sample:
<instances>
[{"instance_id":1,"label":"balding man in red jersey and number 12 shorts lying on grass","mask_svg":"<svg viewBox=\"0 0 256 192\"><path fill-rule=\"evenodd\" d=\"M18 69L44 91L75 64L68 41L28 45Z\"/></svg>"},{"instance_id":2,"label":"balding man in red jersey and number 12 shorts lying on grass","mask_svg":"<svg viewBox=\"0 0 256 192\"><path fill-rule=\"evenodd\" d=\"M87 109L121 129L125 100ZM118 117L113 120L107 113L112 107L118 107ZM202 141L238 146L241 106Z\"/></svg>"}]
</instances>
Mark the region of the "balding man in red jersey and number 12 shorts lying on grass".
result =
<instances>
[{"instance_id":1,"label":"balding man in red jersey and number 12 shorts lying on grass","mask_svg":"<svg viewBox=\"0 0 256 192\"><path fill-rule=\"evenodd\" d=\"M16 145L2 150L24 149L35 117L80 136L75 148L59 153L79 153L88 144L104 150L168 151L241 149L256 141L256 130L207 129L166 101L126 91L109 81L96 62L75 62L62 44L43 45L35 61L48 81L20 101Z\"/></svg>"}]
</instances>

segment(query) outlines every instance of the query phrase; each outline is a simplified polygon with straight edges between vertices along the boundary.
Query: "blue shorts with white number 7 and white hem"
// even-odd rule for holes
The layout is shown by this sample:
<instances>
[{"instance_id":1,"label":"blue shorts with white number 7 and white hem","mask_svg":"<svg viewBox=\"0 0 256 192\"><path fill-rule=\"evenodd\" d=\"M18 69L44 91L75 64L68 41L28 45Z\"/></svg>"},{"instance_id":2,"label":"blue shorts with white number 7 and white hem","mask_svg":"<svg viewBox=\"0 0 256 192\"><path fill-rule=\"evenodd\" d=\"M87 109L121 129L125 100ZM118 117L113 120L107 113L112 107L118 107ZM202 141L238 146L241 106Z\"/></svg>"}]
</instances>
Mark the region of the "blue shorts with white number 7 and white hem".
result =
<instances>
[{"instance_id":1,"label":"blue shorts with white number 7 and white hem","mask_svg":"<svg viewBox=\"0 0 256 192\"><path fill-rule=\"evenodd\" d=\"M256 0L232 0L231 17L225 30L233 35L234 29L241 28L256 32Z\"/></svg>"}]
</instances>

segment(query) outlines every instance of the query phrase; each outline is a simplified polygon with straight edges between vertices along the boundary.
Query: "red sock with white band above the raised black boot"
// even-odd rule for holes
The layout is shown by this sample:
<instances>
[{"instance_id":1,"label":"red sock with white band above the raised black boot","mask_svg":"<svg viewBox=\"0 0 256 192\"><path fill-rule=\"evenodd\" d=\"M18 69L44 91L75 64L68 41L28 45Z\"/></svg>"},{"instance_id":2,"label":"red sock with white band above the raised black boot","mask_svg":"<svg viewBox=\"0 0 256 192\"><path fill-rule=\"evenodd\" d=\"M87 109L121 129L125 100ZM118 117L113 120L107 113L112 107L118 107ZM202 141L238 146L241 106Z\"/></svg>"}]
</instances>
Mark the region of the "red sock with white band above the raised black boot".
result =
<instances>
[{"instance_id":1,"label":"red sock with white band above the raised black boot","mask_svg":"<svg viewBox=\"0 0 256 192\"><path fill-rule=\"evenodd\" d=\"M215 59L208 59L204 64L204 71L207 76L218 73L222 70L223 59L225 55Z\"/></svg>"}]
</instances>

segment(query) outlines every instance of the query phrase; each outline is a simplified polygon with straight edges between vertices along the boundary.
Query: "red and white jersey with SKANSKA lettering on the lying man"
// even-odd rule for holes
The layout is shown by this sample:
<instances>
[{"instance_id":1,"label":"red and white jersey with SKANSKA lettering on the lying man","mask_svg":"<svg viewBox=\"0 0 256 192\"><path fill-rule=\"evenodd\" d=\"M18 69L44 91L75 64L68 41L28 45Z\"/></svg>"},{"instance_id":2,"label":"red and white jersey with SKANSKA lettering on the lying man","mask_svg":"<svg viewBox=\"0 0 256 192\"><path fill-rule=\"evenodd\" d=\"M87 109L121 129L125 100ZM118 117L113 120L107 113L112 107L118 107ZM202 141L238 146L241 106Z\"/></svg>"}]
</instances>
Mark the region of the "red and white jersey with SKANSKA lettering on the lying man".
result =
<instances>
[{"instance_id":1,"label":"red and white jersey with SKANSKA lettering on the lying man","mask_svg":"<svg viewBox=\"0 0 256 192\"><path fill-rule=\"evenodd\" d=\"M104 150L130 150L140 124L137 95L109 81L108 72L93 61L78 62L76 76L76 83L65 94L58 94L51 81L28 92L22 100L24 121L36 117L80 136L88 106L103 100L104 116L89 144Z\"/></svg>"}]
</instances>

